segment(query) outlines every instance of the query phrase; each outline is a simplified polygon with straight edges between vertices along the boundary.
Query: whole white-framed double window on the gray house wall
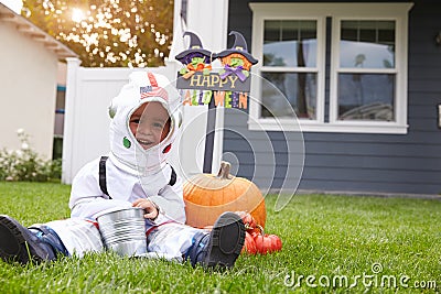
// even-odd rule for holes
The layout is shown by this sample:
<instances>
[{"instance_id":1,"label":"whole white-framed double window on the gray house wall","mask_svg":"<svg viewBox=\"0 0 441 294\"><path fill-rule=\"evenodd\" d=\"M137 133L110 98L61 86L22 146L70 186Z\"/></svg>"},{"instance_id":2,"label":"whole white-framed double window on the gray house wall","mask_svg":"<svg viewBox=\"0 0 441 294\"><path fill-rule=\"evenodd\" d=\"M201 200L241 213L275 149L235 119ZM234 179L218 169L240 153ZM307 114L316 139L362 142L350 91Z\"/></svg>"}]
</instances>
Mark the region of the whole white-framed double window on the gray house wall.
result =
<instances>
[{"instance_id":1,"label":"whole white-framed double window on the gray house wall","mask_svg":"<svg viewBox=\"0 0 441 294\"><path fill-rule=\"evenodd\" d=\"M250 7L262 77L251 87L251 130L295 129L297 117L303 131L407 132L410 3Z\"/></svg>"}]
</instances>

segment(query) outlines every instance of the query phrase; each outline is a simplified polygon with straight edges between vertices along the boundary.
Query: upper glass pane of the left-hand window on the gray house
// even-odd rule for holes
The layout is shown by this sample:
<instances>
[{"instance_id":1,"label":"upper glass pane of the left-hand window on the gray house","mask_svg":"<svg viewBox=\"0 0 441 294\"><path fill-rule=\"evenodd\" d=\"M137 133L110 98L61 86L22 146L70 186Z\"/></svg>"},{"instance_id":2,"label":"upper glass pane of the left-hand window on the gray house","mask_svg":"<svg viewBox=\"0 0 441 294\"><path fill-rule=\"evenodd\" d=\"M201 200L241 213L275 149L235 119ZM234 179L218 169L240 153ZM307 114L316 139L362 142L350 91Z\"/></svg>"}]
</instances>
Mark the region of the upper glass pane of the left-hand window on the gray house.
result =
<instances>
[{"instance_id":1,"label":"upper glass pane of the left-hand window on the gray house","mask_svg":"<svg viewBox=\"0 0 441 294\"><path fill-rule=\"evenodd\" d=\"M315 67L316 21L265 21L263 65Z\"/></svg>"}]
</instances>

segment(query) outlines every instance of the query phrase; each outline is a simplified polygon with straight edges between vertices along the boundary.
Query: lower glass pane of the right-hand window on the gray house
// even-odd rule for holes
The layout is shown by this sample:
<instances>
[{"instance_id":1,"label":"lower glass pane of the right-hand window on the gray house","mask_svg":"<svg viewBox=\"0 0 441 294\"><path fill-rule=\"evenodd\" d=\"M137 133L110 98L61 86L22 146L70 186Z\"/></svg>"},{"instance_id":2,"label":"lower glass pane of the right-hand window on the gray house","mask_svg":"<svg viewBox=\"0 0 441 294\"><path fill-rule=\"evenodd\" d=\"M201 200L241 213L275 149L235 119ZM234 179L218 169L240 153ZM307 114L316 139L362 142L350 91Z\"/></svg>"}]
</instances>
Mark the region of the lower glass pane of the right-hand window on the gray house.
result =
<instances>
[{"instance_id":1,"label":"lower glass pane of the right-hand window on the gray house","mask_svg":"<svg viewBox=\"0 0 441 294\"><path fill-rule=\"evenodd\" d=\"M392 121L395 75L340 74L338 119Z\"/></svg>"}]
</instances>

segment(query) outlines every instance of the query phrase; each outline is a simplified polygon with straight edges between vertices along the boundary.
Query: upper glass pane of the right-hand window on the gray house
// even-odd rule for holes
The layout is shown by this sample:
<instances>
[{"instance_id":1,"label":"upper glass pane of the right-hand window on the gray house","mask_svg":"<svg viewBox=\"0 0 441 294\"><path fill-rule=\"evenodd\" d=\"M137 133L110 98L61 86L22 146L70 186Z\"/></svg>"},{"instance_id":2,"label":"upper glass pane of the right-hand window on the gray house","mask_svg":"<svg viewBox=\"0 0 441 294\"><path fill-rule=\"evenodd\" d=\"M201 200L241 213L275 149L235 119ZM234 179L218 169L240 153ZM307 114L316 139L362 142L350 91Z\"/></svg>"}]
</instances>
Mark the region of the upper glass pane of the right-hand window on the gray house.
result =
<instances>
[{"instance_id":1,"label":"upper glass pane of the right-hand window on the gray house","mask_svg":"<svg viewBox=\"0 0 441 294\"><path fill-rule=\"evenodd\" d=\"M340 66L395 68L395 21L342 21Z\"/></svg>"}]
</instances>

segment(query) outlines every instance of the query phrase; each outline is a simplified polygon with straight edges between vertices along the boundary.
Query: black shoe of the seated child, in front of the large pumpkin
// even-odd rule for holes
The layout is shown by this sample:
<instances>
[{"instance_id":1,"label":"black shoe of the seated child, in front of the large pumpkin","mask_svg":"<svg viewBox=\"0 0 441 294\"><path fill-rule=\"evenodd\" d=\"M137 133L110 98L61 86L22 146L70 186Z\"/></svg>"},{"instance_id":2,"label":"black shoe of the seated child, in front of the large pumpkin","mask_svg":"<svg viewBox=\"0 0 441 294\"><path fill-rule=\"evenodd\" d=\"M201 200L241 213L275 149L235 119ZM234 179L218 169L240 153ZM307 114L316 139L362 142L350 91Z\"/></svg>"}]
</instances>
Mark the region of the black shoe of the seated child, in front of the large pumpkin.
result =
<instances>
[{"instance_id":1,"label":"black shoe of the seated child, in front of the large pumpkin","mask_svg":"<svg viewBox=\"0 0 441 294\"><path fill-rule=\"evenodd\" d=\"M204 268L233 268L245 241L245 226L234 213L224 213L213 226L209 235L196 240L190 252L192 264Z\"/></svg>"}]
</instances>

